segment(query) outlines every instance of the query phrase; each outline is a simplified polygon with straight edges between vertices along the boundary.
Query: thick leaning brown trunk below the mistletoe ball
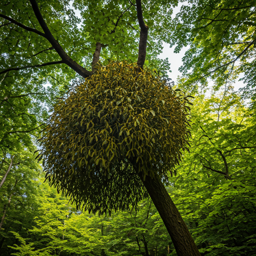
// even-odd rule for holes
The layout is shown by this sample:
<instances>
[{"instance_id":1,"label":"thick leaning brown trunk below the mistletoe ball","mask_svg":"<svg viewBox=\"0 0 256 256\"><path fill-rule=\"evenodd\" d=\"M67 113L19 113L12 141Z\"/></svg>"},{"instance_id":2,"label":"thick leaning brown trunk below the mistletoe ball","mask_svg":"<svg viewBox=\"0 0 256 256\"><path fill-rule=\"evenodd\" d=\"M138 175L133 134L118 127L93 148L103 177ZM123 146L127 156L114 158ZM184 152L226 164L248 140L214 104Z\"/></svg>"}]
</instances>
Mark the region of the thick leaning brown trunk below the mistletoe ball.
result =
<instances>
[{"instance_id":1,"label":"thick leaning brown trunk below the mistletoe ball","mask_svg":"<svg viewBox=\"0 0 256 256\"><path fill-rule=\"evenodd\" d=\"M152 179L147 175L143 180L142 172L138 172L138 175L167 228L177 255L199 256L194 240L160 178L155 176Z\"/></svg>"}]
</instances>

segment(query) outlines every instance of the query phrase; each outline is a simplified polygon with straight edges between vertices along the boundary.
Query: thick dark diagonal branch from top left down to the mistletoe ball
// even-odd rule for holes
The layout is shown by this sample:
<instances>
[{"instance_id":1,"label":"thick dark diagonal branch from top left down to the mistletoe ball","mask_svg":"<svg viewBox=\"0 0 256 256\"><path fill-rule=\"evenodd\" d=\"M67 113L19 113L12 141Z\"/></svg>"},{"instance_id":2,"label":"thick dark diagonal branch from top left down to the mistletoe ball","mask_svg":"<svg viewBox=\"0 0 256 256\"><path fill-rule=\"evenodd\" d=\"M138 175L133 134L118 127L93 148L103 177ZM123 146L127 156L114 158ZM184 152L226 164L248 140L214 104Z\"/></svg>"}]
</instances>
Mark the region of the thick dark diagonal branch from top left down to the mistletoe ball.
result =
<instances>
[{"instance_id":1,"label":"thick dark diagonal branch from top left down to the mistletoe ball","mask_svg":"<svg viewBox=\"0 0 256 256\"><path fill-rule=\"evenodd\" d=\"M52 35L52 33L50 32L47 24L45 23L42 14L39 10L39 7L36 3L36 0L29 0L34 14L42 28L42 30L45 33L45 38L51 43L51 45L53 46L53 48L56 50L56 52L58 53L58 55L61 57L61 59L63 60L63 63L67 64L69 67L71 67L75 72L77 72L79 75L81 75L82 77L86 78L88 76L90 76L92 74L91 71L88 71L87 69L85 69L84 67L82 67L81 65L79 65L78 63L76 63L71 57L69 57L67 55L67 53L63 50L63 48L60 46L60 44L58 43L58 41L54 38L54 36Z\"/></svg>"}]
</instances>

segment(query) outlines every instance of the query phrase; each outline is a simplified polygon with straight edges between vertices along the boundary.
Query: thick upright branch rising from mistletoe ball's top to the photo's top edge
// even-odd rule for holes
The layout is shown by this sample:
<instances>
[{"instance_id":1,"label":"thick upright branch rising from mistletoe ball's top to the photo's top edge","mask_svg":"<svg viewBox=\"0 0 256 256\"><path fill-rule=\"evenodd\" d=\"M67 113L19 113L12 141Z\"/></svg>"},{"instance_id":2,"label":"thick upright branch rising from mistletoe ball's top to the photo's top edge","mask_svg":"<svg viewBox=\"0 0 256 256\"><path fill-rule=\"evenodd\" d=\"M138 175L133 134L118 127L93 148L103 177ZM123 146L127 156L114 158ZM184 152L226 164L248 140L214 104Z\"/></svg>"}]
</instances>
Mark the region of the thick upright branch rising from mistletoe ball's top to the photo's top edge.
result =
<instances>
[{"instance_id":1,"label":"thick upright branch rising from mistletoe ball's top to the photo's top edge","mask_svg":"<svg viewBox=\"0 0 256 256\"><path fill-rule=\"evenodd\" d=\"M143 65L146 58L146 41L148 26L145 25L142 15L141 0L136 0L137 19L140 27L139 44L138 44L138 60L137 65L143 69Z\"/></svg>"}]
</instances>

